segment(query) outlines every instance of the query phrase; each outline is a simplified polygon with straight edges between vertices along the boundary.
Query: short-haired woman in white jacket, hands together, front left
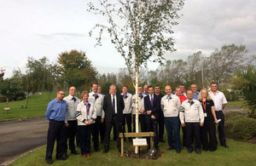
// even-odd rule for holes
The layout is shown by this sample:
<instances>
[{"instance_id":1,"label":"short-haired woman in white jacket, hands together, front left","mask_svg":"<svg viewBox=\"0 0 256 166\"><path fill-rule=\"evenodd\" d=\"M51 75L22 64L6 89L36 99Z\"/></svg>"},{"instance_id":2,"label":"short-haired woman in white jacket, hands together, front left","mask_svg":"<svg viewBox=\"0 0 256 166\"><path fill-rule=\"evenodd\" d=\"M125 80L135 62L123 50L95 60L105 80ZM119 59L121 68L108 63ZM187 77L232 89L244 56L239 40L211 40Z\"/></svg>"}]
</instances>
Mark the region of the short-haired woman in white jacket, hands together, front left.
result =
<instances>
[{"instance_id":1,"label":"short-haired woman in white jacket, hands together, front left","mask_svg":"<svg viewBox=\"0 0 256 166\"><path fill-rule=\"evenodd\" d=\"M90 135L92 132L92 123L95 123L96 111L93 103L88 101L87 91L82 92L82 101L79 103L76 112L78 120L78 132L80 135L80 148L83 157L90 157Z\"/></svg>"}]
</instances>

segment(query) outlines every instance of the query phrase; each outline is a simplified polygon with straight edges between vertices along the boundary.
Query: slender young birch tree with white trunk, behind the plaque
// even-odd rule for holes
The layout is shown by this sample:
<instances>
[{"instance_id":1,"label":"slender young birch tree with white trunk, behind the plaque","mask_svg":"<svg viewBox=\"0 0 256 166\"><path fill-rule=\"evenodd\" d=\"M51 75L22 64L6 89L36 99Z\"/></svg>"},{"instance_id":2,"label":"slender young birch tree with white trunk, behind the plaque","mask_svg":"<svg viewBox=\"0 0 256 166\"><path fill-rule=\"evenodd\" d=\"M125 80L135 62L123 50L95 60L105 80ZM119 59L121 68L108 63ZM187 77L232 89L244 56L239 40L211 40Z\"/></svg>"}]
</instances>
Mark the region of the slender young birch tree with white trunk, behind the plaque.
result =
<instances>
[{"instance_id":1,"label":"slender young birch tree with white trunk, behind the plaque","mask_svg":"<svg viewBox=\"0 0 256 166\"><path fill-rule=\"evenodd\" d=\"M177 25L177 11L183 8L183 0L98 0L100 7L89 3L89 11L102 14L107 25L99 28L97 45L101 45L102 33L107 31L115 49L125 59L125 65L138 87L138 73L147 61L162 63L166 51L174 51L172 26ZM93 31L93 30L92 30ZM90 35L92 35L90 31ZM136 132L138 132L138 98L136 97ZM136 149L137 152L137 149Z\"/></svg>"}]
</instances>

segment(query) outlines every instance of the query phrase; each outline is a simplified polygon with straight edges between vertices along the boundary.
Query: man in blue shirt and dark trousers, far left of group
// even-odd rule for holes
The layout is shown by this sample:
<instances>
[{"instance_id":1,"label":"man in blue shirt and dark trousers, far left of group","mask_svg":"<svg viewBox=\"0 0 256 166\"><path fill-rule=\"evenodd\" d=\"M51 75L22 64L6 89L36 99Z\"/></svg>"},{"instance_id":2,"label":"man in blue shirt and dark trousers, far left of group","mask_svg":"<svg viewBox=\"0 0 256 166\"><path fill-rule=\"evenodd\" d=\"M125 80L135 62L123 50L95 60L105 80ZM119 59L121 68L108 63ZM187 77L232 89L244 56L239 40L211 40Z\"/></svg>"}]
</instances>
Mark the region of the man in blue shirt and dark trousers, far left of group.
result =
<instances>
[{"instance_id":1,"label":"man in blue shirt and dark trousers, far left of group","mask_svg":"<svg viewBox=\"0 0 256 166\"><path fill-rule=\"evenodd\" d=\"M49 120L45 160L49 164L52 163L55 140L57 140L56 159L67 159L64 144L67 102L63 100L64 95L64 90L58 90L56 98L48 103L45 112L45 118Z\"/></svg>"}]
</instances>

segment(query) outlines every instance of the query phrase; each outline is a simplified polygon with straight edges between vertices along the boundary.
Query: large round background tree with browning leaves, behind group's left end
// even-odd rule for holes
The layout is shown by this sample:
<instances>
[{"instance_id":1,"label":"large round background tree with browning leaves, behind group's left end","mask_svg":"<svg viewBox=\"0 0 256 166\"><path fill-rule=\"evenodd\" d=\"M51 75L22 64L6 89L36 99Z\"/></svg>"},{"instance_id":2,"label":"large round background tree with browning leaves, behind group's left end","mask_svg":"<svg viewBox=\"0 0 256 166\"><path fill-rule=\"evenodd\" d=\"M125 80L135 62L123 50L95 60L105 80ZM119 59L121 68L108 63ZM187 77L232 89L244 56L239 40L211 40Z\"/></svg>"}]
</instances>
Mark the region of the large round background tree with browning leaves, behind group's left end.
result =
<instances>
[{"instance_id":1,"label":"large round background tree with browning leaves, behind group's left end","mask_svg":"<svg viewBox=\"0 0 256 166\"><path fill-rule=\"evenodd\" d=\"M90 83L96 80L96 68L82 51L75 49L59 54L58 65L66 88L75 86L80 89L89 89Z\"/></svg>"}]
</instances>

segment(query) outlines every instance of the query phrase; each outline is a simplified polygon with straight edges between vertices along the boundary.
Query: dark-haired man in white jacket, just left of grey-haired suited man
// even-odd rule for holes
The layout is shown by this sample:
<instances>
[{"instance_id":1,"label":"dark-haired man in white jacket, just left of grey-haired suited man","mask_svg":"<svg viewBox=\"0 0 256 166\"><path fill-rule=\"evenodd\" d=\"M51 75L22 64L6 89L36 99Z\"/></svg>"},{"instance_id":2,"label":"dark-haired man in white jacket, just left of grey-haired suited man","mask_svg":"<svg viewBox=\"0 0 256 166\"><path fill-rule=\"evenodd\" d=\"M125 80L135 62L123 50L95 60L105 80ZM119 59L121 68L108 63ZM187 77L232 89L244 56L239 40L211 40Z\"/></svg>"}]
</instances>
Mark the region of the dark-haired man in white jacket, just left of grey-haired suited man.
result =
<instances>
[{"instance_id":1,"label":"dark-haired man in white jacket, just left of grey-haired suited man","mask_svg":"<svg viewBox=\"0 0 256 166\"><path fill-rule=\"evenodd\" d=\"M103 112L103 100L104 97L102 94L97 93L98 84L92 83L91 85L91 92L89 93L89 101L93 103L94 109L96 111L96 123L93 123L93 131L92 131L92 141L94 143L94 150L95 152L99 151L99 134L100 134L100 128L101 123L104 122L104 112Z\"/></svg>"}]
</instances>

